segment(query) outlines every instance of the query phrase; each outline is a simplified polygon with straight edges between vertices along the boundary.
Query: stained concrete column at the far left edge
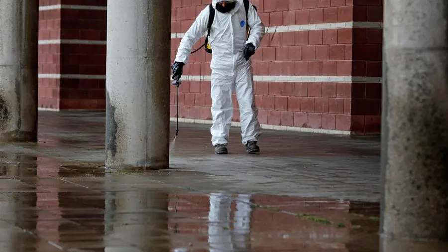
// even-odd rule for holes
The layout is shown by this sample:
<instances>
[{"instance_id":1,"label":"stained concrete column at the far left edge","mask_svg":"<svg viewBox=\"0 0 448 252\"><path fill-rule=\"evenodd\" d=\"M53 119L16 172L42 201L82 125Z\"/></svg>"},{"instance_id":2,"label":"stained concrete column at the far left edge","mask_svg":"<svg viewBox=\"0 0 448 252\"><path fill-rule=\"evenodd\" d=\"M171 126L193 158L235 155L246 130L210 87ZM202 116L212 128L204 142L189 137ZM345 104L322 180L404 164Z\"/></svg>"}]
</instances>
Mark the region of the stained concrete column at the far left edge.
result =
<instances>
[{"instance_id":1,"label":"stained concrete column at the far left edge","mask_svg":"<svg viewBox=\"0 0 448 252\"><path fill-rule=\"evenodd\" d=\"M39 3L0 1L0 141L37 140Z\"/></svg>"}]
</instances>

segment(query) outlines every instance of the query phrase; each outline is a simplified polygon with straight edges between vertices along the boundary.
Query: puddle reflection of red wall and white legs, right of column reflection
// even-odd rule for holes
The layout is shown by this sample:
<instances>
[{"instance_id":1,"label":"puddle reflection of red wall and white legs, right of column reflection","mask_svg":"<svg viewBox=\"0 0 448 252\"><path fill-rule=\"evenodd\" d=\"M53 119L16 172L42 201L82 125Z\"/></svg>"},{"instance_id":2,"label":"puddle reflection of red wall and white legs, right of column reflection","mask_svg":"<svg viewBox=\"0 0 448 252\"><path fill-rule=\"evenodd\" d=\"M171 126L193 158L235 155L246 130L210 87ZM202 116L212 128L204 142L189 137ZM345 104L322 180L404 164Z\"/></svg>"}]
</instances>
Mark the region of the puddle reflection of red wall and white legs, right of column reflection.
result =
<instances>
[{"instance_id":1,"label":"puddle reflection of red wall and white legs, right of column reflection","mask_svg":"<svg viewBox=\"0 0 448 252\"><path fill-rule=\"evenodd\" d=\"M352 216L349 202L222 193L178 194L175 199L171 211L177 218L170 222L176 222L173 233L184 234L172 241L176 248L187 249L182 247L180 238L193 234L193 237L203 236L198 240L207 242L210 252L378 251L379 223L365 216ZM353 230L351 222L357 220L364 220L365 227ZM352 246L352 243L358 245Z\"/></svg>"}]
</instances>

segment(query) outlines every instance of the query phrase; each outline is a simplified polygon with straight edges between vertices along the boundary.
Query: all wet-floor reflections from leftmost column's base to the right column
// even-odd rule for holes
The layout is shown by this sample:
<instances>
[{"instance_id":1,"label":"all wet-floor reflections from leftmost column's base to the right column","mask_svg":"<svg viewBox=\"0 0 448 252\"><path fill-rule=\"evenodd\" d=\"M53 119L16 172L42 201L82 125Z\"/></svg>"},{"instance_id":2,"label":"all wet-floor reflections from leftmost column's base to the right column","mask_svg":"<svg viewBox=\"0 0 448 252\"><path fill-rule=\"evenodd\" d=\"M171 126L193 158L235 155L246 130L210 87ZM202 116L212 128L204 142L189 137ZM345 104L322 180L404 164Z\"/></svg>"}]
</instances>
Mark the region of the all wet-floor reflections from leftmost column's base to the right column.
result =
<instances>
[{"instance_id":1,"label":"all wet-floor reflections from leftmost column's base to the right column","mask_svg":"<svg viewBox=\"0 0 448 252\"><path fill-rule=\"evenodd\" d=\"M144 176L7 157L1 252L377 252L378 204L194 194ZM36 165L37 163L37 165ZM91 176L86 176L89 173Z\"/></svg>"}]
</instances>

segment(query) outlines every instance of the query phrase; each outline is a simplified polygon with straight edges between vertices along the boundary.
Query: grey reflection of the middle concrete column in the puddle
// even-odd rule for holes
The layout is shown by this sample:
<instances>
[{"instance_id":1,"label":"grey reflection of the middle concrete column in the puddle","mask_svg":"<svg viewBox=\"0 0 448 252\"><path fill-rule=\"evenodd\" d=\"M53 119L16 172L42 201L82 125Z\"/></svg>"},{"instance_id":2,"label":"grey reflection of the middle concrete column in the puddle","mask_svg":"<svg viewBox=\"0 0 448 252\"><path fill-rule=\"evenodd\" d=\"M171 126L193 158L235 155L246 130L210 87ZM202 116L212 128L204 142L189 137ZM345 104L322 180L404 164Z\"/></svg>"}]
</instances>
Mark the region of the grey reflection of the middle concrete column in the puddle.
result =
<instances>
[{"instance_id":1,"label":"grey reflection of the middle concrete column in the puddle","mask_svg":"<svg viewBox=\"0 0 448 252\"><path fill-rule=\"evenodd\" d=\"M107 173L105 176L114 174ZM114 183L119 183L116 178L113 180ZM120 239L142 252L170 251L168 193L135 189L116 191L105 196L105 229L108 239ZM108 243L109 240L105 241L105 252L123 250L113 244L109 247Z\"/></svg>"}]
</instances>

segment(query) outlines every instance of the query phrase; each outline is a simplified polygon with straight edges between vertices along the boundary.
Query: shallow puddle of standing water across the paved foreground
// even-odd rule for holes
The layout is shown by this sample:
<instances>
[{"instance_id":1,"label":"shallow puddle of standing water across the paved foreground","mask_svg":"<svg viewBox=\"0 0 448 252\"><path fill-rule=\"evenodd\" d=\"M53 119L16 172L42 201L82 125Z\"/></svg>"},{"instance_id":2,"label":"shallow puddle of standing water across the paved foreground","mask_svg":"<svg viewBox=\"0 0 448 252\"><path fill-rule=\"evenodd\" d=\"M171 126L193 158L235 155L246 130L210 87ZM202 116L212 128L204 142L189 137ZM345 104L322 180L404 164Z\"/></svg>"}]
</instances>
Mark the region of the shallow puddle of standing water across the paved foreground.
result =
<instances>
[{"instance_id":1,"label":"shallow puddle of standing water across the paved foreground","mask_svg":"<svg viewBox=\"0 0 448 252\"><path fill-rule=\"evenodd\" d=\"M102 184L98 190L65 188L59 192L55 185L45 194L5 193L0 218L64 250L120 247L123 252L283 252L306 248L316 252L376 252L379 248L376 232L353 225L364 220L362 225L378 230L379 222L351 214L348 201L264 194L204 195L135 187L114 191L121 181L98 183ZM356 204L357 210L372 206ZM365 239L371 242L358 244ZM14 248L11 241L17 239L0 239L0 248ZM26 239L21 241L25 247L43 251L32 239L29 244ZM353 243L358 244L355 250L349 249Z\"/></svg>"}]
</instances>

